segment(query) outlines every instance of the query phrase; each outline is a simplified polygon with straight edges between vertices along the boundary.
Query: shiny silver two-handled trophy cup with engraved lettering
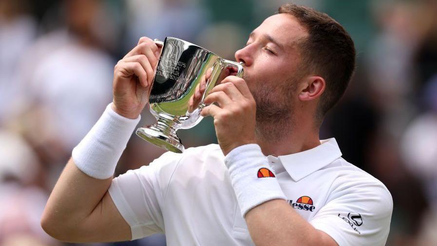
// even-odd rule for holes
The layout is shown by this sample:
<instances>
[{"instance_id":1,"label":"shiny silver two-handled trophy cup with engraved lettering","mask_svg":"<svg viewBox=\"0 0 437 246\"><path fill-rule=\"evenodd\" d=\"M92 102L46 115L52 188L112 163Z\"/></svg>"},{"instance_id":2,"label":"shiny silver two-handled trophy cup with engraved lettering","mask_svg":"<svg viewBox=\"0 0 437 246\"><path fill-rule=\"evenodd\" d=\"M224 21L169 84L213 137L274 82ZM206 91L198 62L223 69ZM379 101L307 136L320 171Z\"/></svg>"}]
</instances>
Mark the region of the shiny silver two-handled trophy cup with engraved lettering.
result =
<instances>
[{"instance_id":1,"label":"shiny silver two-handled trophy cup with engraved lettering","mask_svg":"<svg viewBox=\"0 0 437 246\"><path fill-rule=\"evenodd\" d=\"M190 42L167 37L156 67L149 98L150 112L157 122L138 128L136 134L152 144L181 153L184 146L176 135L201 120L204 98L229 74L243 76L243 63L226 60ZM201 93L194 100L195 93Z\"/></svg>"}]
</instances>

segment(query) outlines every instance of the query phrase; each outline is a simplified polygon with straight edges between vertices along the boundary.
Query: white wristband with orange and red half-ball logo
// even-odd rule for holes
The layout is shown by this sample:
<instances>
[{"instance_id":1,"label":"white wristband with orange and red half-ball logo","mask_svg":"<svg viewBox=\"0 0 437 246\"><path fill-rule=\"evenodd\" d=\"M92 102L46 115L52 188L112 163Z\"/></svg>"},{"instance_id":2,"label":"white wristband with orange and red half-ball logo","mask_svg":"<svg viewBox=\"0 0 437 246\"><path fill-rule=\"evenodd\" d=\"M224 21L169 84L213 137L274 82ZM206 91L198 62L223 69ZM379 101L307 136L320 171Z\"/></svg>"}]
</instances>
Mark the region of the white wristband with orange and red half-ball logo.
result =
<instances>
[{"instance_id":1,"label":"white wristband with orange and red half-ball logo","mask_svg":"<svg viewBox=\"0 0 437 246\"><path fill-rule=\"evenodd\" d=\"M226 155L225 164L243 217L266 201L286 200L259 145L247 144L233 149Z\"/></svg>"}]
</instances>

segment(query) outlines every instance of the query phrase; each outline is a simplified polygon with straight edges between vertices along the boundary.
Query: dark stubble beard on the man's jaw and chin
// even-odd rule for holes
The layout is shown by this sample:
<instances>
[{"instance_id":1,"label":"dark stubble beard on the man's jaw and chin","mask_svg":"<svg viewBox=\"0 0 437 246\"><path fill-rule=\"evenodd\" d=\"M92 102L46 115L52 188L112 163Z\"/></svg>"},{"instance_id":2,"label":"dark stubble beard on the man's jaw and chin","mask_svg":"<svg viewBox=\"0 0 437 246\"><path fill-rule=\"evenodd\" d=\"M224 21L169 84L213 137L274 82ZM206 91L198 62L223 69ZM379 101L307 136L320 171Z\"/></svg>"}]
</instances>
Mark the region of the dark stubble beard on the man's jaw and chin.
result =
<instances>
[{"instance_id":1,"label":"dark stubble beard on the man's jaw and chin","mask_svg":"<svg viewBox=\"0 0 437 246\"><path fill-rule=\"evenodd\" d=\"M247 84L251 79L244 76ZM296 91L294 77L283 80L259 82L250 92L256 102L255 135L264 142L277 142L285 138L295 125L292 96Z\"/></svg>"}]
</instances>

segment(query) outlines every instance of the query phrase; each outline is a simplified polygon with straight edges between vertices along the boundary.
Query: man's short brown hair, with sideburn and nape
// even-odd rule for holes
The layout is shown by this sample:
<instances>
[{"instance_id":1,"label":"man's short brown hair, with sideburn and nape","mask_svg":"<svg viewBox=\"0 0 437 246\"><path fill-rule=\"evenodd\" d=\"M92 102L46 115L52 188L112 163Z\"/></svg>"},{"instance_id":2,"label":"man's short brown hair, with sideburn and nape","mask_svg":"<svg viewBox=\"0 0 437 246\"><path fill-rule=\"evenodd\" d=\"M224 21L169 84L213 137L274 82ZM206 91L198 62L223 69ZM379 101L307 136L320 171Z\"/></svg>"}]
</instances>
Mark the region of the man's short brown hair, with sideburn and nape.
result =
<instances>
[{"instance_id":1,"label":"man's short brown hair, with sideburn and nape","mask_svg":"<svg viewBox=\"0 0 437 246\"><path fill-rule=\"evenodd\" d=\"M354 41L337 21L312 8L286 3L278 9L278 14L284 13L295 17L308 32L299 44L302 64L326 81L316 115L322 121L344 94L355 71Z\"/></svg>"}]
</instances>

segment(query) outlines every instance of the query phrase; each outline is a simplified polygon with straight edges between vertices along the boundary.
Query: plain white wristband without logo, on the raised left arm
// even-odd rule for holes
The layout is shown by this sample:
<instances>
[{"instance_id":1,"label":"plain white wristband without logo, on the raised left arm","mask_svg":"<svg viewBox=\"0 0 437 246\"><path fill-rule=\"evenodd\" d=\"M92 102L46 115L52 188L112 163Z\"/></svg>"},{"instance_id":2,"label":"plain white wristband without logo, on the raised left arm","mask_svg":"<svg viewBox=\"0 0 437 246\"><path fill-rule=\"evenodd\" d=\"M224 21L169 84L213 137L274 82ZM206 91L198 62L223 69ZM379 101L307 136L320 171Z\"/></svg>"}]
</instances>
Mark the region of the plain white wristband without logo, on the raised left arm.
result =
<instances>
[{"instance_id":1,"label":"plain white wristband without logo, on the raised left arm","mask_svg":"<svg viewBox=\"0 0 437 246\"><path fill-rule=\"evenodd\" d=\"M77 168L97 179L113 176L140 118L125 118L115 113L112 103L109 104L91 131L73 149L72 158Z\"/></svg>"}]
</instances>

